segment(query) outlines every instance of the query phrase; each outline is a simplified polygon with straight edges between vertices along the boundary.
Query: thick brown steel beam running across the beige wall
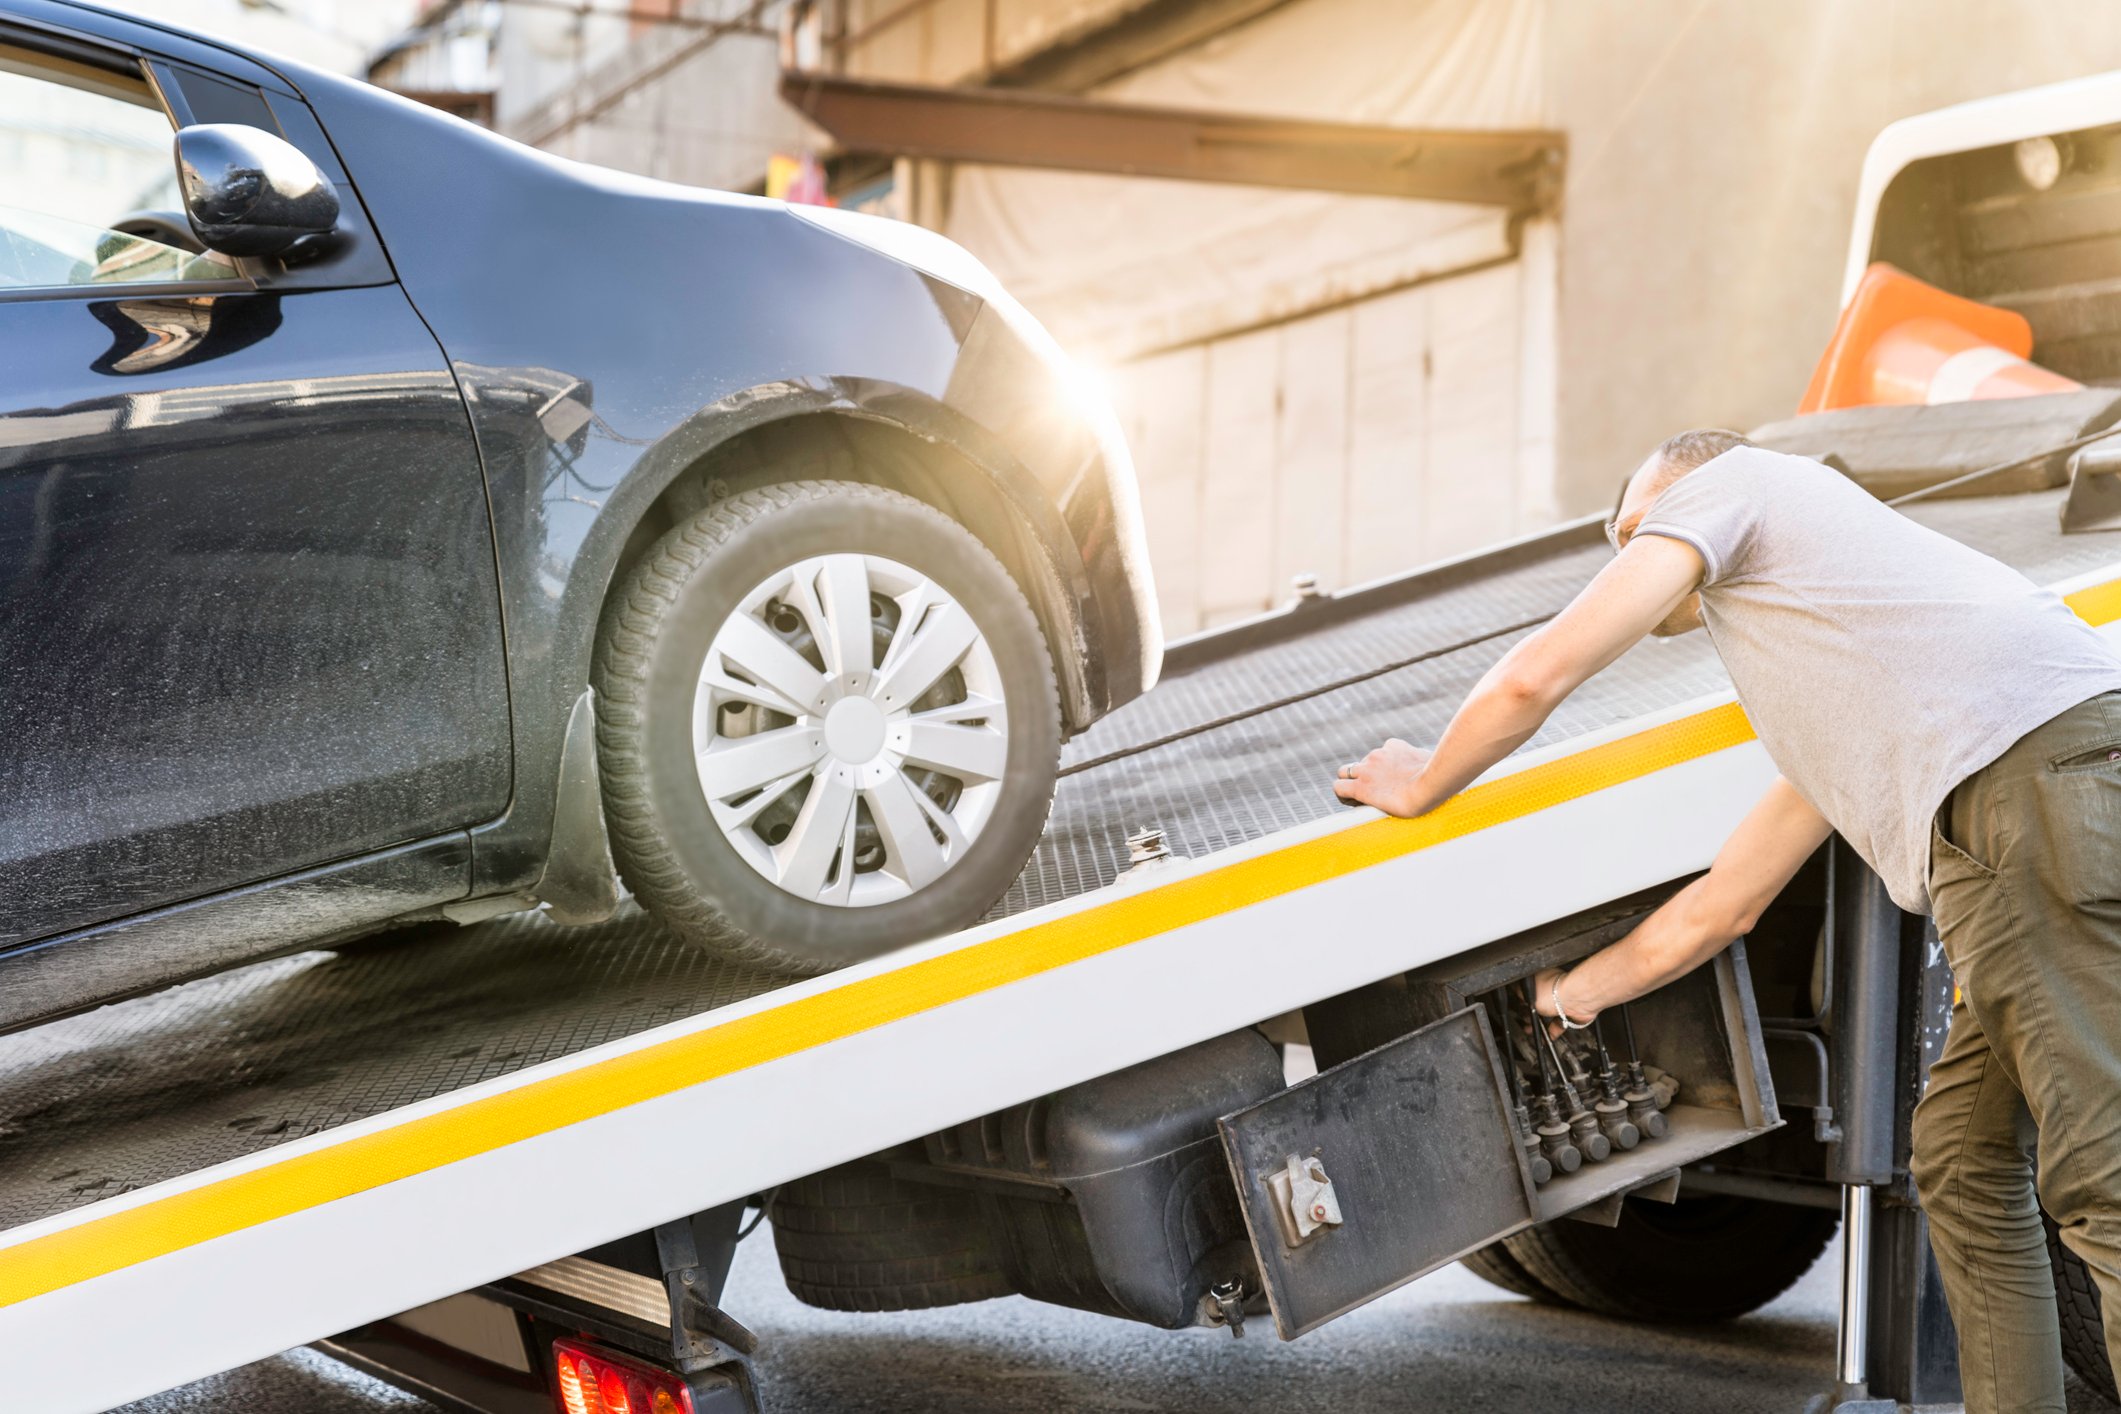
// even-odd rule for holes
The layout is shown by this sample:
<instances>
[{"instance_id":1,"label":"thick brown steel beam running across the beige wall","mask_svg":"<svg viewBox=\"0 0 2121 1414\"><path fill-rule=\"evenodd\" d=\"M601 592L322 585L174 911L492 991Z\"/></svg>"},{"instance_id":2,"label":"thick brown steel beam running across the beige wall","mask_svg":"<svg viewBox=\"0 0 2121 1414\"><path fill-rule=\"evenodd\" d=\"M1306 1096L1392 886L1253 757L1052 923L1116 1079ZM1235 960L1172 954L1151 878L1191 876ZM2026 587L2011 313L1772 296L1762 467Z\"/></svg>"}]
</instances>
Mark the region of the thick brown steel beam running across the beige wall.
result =
<instances>
[{"instance_id":1,"label":"thick brown steel beam running across the beige wall","mask_svg":"<svg viewBox=\"0 0 2121 1414\"><path fill-rule=\"evenodd\" d=\"M1548 129L1313 123L797 70L781 74L781 98L857 153L1525 212L1555 201L1567 151Z\"/></svg>"}]
</instances>

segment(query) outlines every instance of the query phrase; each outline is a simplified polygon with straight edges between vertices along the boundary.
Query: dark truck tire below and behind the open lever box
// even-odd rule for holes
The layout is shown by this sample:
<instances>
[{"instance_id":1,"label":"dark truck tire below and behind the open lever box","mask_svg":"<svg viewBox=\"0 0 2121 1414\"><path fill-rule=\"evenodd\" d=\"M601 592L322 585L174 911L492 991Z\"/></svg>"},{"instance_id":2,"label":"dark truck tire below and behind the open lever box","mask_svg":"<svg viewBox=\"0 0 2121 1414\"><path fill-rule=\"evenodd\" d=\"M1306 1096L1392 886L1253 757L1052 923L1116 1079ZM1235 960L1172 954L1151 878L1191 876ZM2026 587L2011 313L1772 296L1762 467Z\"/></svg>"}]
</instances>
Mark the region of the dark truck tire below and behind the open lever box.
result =
<instances>
[{"instance_id":1,"label":"dark truck tire below and behind the open lever box","mask_svg":"<svg viewBox=\"0 0 2121 1414\"><path fill-rule=\"evenodd\" d=\"M1629 1202L1618 1227L1570 1219L1504 1238L1563 1302L1623 1321L1699 1325L1767 1306L1811 1270L1837 1213L1710 1194Z\"/></svg>"}]
</instances>

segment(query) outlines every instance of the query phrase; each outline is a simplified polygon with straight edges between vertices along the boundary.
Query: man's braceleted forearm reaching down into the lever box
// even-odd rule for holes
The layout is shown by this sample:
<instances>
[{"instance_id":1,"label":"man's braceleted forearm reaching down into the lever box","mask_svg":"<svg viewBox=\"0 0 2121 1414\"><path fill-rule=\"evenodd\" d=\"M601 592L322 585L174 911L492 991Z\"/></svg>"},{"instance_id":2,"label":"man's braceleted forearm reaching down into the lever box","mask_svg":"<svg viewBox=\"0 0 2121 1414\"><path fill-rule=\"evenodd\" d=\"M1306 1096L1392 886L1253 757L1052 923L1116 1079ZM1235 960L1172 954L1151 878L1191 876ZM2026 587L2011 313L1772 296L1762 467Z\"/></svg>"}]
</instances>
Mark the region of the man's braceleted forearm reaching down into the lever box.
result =
<instances>
[{"instance_id":1,"label":"man's braceleted forearm reaching down into the lever box","mask_svg":"<svg viewBox=\"0 0 2121 1414\"><path fill-rule=\"evenodd\" d=\"M1553 967L1540 973L1540 1015L1557 1015L1557 982L1561 1009L1572 1022L1589 1022L1606 1007L1635 1001L1701 967L1752 931L1760 912L1830 833L1833 827L1820 812L1788 780L1777 778L1716 852L1707 873L1574 971Z\"/></svg>"}]
</instances>

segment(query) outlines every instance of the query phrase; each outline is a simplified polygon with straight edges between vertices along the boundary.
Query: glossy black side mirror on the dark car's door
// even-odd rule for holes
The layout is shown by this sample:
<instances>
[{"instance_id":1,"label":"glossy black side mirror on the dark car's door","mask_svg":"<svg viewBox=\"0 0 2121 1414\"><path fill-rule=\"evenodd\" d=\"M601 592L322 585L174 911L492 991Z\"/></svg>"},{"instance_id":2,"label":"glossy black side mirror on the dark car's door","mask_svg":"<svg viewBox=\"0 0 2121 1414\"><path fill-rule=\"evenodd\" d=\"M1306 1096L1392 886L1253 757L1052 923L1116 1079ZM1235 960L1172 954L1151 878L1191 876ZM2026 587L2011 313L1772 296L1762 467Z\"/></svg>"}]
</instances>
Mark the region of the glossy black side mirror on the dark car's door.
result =
<instances>
[{"instance_id":1,"label":"glossy black side mirror on the dark car's door","mask_svg":"<svg viewBox=\"0 0 2121 1414\"><path fill-rule=\"evenodd\" d=\"M339 225L339 193L301 148L244 123L176 129L176 180L199 244L288 257Z\"/></svg>"}]
</instances>

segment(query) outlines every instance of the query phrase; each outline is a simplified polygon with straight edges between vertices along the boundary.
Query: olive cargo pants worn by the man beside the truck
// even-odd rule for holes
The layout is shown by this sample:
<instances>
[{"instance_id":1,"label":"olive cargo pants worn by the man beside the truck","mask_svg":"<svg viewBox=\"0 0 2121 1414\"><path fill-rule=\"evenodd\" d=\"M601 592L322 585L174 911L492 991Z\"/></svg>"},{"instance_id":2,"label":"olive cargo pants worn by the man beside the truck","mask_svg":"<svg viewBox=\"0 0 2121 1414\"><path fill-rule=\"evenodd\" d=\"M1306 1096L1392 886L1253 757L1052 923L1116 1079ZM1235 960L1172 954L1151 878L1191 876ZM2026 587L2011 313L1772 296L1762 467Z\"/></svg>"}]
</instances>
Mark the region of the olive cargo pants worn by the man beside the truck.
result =
<instances>
[{"instance_id":1,"label":"olive cargo pants worn by the man beside the truck","mask_svg":"<svg viewBox=\"0 0 2121 1414\"><path fill-rule=\"evenodd\" d=\"M1966 1410L2062 1414L2043 1206L2098 1280L2121 1367L2121 693L2043 723L1951 793L1930 903L1960 996L1913 1170Z\"/></svg>"}]
</instances>

